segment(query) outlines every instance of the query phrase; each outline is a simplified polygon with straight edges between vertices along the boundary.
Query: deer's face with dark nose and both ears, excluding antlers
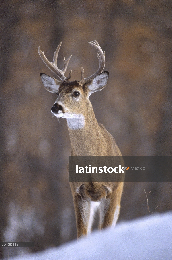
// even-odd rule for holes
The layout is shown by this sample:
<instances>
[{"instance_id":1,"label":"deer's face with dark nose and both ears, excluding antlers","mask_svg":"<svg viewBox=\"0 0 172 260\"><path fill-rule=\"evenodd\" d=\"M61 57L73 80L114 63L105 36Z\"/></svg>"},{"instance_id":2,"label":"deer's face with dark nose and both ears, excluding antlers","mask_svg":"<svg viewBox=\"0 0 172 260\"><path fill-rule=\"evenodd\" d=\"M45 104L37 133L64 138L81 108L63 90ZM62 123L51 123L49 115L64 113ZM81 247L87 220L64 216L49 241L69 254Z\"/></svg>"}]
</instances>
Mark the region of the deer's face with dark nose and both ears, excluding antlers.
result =
<instances>
[{"instance_id":1,"label":"deer's face with dark nose and both ears, excluding antlers","mask_svg":"<svg viewBox=\"0 0 172 260\"><path fill-rule=\"evenodd\" d=\"M108 72L103 72L91 82L81 86L78 81L60 82L53 77L41 73L44 87L57 94L57 99L51 112L58 118L81 118L87 113L90 101L89 95L105 87L108 81Z\"/></svg>"}]
</instances>

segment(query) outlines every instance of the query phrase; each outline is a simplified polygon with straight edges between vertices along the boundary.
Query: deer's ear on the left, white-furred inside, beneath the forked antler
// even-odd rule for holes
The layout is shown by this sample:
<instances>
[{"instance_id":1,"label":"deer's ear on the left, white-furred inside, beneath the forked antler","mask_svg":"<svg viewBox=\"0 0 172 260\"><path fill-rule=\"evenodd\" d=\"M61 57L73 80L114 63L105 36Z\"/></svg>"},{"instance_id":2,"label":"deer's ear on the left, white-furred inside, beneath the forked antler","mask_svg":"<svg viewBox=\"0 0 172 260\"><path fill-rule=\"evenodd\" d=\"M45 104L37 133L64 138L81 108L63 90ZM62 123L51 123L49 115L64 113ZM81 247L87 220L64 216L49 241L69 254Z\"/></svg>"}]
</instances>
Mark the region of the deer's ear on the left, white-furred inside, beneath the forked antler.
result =
<instances>
[{"instance_id":1,"label":"deer's ear on the left, white-furred inside, beneath the forked antler","mask_svg":"<svg viewBox=\"0 0 172 260\"><path fill-rule=\"evenodd\" d=\"M41 73L40 76L41 76L42 83L43 83L44 87L46 88L46 90L48 90L52 93L58 92L58 88L61 84L60 81L58 81L57 79L54 79L53 77L46 75L45 73Z\"/></svg>"}]
</instances>

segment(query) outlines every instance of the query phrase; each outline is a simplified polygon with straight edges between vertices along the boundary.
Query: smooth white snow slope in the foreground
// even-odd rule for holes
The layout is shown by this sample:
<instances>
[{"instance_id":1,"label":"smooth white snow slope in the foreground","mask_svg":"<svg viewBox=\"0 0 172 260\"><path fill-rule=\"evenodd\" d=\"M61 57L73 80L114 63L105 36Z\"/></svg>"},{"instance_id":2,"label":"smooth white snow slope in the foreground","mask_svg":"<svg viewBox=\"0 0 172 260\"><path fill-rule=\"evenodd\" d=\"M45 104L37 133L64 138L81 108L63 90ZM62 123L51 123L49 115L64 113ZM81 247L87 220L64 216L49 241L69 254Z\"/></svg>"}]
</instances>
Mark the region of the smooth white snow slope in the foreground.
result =
<instances>
[{"instance_id":1,"label":"smooth white snow slope in the foreground","mask_svg":"<svg viewBox=\"0 0 172 260\"><path fill-rule=\"evenodd\" d=\"M172 260L172 212L117 224L13 260Z\"/></svg>"}]
</instances>

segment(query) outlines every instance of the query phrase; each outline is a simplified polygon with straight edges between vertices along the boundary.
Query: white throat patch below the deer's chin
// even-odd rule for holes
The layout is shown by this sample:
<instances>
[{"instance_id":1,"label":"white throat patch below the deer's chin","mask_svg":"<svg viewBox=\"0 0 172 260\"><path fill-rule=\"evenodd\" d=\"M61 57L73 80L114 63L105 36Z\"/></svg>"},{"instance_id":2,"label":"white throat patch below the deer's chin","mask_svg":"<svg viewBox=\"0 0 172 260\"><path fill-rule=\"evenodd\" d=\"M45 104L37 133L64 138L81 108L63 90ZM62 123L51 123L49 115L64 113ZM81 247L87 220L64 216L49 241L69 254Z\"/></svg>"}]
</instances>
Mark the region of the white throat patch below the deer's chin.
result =
<instances>
[{"instance_id":1,"label":"white throat patch below the deer's chin","mask_svg":"<svg viewBox=\"0 0 172 260\"><path fill-rule=\"evenodd\" d=\"M84 116L82 114L73 115L73 116L74 117L66 118L69 128L72 130L78 130L78 129L83 128L85 125Z\"/></svg>"}]
</instances>

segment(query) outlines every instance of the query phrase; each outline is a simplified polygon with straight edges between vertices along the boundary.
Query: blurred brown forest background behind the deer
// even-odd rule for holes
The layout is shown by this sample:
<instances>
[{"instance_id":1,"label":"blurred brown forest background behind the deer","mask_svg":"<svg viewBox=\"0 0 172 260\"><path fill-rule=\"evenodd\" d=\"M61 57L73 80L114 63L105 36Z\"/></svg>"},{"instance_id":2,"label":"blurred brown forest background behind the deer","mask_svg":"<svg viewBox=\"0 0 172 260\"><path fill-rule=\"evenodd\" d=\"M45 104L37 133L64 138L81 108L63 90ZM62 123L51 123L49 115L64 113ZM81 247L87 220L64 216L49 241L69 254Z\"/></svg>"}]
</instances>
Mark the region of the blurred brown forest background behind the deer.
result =
<instances>
[{"instance_id":1,"label":"blurred brown forest background behind the deer","mask_svg":"<svg viewBox=\"0 0 172 260\"><path fill-rule=\"evenodd\" d=\"M108 85L91 95L96 118L122 155L171 155L172 1L0 1L0 241L34 241L34 248L0 248L0 258L58 246L77 237L67 162L65 120L52 116L56 96L40 79L55 75L72 54L66 75L80 80L98 68L97 40L106 52ZM125 183L118 221L172 210L172 183Z\"/></svg>"}]
</instances>

